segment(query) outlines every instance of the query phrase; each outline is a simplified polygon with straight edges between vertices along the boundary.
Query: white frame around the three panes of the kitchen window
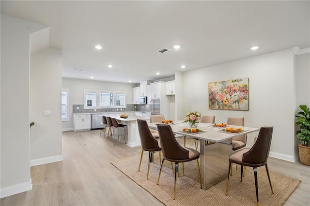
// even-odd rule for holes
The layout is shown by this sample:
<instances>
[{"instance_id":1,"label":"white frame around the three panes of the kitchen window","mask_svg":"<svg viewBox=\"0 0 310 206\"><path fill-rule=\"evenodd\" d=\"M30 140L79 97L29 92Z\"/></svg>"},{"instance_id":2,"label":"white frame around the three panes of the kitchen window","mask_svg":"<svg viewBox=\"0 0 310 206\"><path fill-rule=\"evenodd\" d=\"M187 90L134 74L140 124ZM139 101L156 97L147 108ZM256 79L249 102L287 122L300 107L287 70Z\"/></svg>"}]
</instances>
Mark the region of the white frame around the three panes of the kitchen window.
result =
<instances>
[{"instance_id":1,"label":"white frame around the three panes of the kitchen window","mask_svg":"<svg viewBox=\"0 0 310 206\"><path fill-rule=\"evenodd\" d=\"M87 106L86 105L86 93L93 92L95 93L95 106ZM109 93L113 94L113 105L111 106L100 106L100 93ZM116 97L117 94L124 94L124 105L116 105ZM94 90L94 89L84 89L84 109L106 109L106 108L127 108L127 92L126 91L111 91L111 90Z\"/></svg>"}]
</instances>

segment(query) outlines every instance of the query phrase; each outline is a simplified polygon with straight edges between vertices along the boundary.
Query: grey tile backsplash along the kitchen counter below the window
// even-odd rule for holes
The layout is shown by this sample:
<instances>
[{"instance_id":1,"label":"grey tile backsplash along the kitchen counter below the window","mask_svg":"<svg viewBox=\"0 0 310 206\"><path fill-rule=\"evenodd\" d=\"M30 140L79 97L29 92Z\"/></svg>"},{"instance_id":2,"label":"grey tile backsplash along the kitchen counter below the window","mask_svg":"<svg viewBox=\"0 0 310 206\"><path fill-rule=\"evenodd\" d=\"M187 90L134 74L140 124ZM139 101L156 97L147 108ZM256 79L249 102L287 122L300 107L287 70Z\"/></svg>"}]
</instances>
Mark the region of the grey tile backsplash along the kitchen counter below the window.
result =
<instances>
[{"instance_id":1,"label":"grey tile backsplash along the kitchen counter below the window","mask_svg":"<svg viewBox=\"0 0 310 206\"><path fill-rule=\"evenodd\" d=\"M136 108L135 108L136 106ZM84 109L83 104L73 104L72 105L72 113L77 114L77 113L100 113L100 112L126 112L126 111L139 111L139 112L150 112L150 105L149 104L127 104L127 108L122 108L122 111L116 108L110 108L110 109Z\"/></svg>"}]
</instances>

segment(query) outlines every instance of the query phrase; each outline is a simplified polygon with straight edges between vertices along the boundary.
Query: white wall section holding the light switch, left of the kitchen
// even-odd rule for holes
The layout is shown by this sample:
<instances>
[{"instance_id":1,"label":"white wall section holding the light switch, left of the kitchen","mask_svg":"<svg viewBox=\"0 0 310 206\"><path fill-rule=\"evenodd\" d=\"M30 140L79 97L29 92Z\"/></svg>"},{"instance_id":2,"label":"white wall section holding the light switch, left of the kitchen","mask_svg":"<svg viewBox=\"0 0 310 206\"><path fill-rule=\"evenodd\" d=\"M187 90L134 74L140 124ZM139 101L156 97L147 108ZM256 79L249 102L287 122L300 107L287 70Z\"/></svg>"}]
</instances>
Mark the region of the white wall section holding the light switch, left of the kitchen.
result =
<instances>
[{"instance_id":1,"label":"white wall section holding the light switch, left of the kitchen","mask_svg":"<svg viewBox=\"0 0 310 206\"><path fill-rule=\"evenodd\" d=\"M31 54L31 166L62 160L62 50L47 48ZM44 111L51 112L44 116Z\"/></svg>"}]
</instances>

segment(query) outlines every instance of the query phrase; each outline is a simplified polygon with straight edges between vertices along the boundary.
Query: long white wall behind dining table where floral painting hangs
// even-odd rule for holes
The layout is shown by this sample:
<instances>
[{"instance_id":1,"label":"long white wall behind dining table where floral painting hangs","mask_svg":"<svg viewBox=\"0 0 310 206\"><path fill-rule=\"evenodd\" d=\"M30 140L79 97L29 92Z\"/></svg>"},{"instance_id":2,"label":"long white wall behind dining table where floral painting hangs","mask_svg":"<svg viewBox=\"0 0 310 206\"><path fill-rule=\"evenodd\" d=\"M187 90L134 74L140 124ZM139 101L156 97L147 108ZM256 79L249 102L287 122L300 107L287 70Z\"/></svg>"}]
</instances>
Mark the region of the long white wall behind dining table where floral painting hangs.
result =
<instances>
[{"instance_id":1,"label":"long white wall behind dining table where floral painting hangs","mask_svg":"<svg viewBox=\"0 0 310 206\"><path fill-rule=\"evenodd\" d=\"M294 157L294 58L293 49L235 60L183 74L184 112L197 110L216 116L244 117L245 126L273 126L270 156L295 161ZM249 78L249 110L210 110L208 83L235 78ZM248 146L258 132L248 134Z\"/></svg>"}]
</instances>

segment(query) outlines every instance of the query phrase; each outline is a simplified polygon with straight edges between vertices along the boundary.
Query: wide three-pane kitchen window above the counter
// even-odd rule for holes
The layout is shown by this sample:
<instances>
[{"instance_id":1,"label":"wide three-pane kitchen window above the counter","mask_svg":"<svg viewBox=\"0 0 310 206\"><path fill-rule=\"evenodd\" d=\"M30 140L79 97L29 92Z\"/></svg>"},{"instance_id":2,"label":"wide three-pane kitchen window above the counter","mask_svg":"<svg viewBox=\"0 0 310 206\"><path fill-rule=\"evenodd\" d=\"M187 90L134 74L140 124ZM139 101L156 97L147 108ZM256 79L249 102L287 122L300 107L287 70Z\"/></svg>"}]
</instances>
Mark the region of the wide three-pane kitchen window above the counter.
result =
<instances>
[{"instance_id":1,"label":"wide three-pane kitchen window above the counter","mask_svg":"<svg viewBox=\"0 0 310 206\"><path fill-rule=\"evenodd\" d=\"M126 92L84 90L84 109L126 108Z\"/></svg>"}]
</instances>

